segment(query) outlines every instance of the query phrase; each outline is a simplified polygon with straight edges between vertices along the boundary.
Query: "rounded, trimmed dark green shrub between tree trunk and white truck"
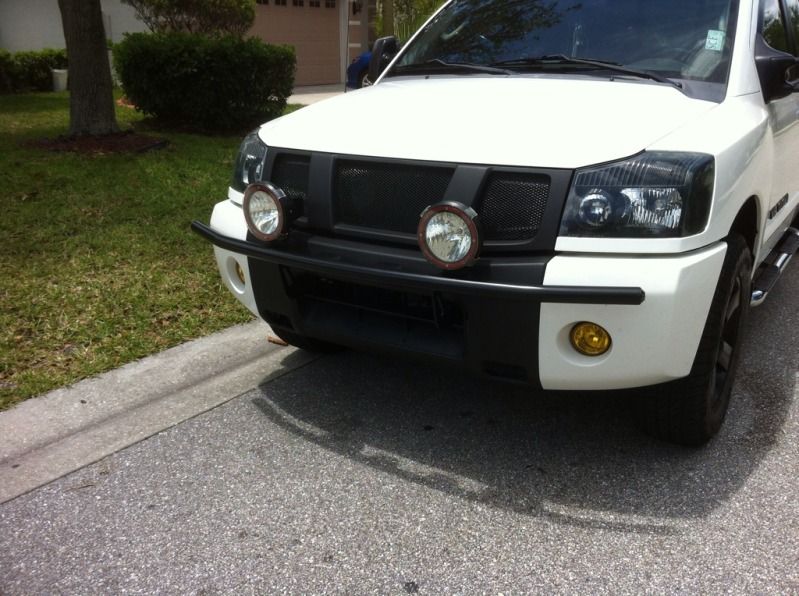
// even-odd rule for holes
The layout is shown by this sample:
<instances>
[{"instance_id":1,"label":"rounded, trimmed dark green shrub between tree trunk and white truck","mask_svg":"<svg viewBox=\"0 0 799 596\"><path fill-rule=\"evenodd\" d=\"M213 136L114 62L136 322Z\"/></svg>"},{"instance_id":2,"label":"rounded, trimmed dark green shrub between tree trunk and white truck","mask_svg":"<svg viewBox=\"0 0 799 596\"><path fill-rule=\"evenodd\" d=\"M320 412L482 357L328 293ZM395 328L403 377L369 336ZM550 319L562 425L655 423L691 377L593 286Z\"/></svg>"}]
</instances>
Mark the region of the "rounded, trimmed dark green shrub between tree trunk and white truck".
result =
<instances>
[{"instance_id":1,"label":"rounded, trimmed dark green shrub between tree trunk and white truck","mask_svg":"<svg viewBox=\"0 0 799 596\"><path fill-rule=\"evenodd\" d=\"M128 99L145 114L204 130L279 116L294 85L294 50L259 39L134 33L114 46Z\"/></svg>"}]
</instances>

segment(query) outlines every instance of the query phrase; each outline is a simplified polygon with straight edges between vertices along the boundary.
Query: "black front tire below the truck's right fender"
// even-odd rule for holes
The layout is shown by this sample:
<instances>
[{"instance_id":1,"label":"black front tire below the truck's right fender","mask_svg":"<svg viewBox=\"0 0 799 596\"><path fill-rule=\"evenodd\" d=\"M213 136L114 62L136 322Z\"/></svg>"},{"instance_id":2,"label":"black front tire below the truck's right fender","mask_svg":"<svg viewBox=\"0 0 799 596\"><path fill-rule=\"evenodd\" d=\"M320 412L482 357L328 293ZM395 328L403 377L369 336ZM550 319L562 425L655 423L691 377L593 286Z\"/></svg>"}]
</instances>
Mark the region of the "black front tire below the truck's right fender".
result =
<instances>
[{"instance_id":1,"label":"black front tire below the truck's right fender","mask_svg":"<svg viewBox=\"0 0 799 596\"><path fill-rule=\"evenodd\" d=\"M637 400L644 430L680 445L703 445L719 431L738 368L752 294L752 255L740 235L732 234L726 242L727 254L691 373L652 387L649 395Z\"/></svg>"}]
</instances>

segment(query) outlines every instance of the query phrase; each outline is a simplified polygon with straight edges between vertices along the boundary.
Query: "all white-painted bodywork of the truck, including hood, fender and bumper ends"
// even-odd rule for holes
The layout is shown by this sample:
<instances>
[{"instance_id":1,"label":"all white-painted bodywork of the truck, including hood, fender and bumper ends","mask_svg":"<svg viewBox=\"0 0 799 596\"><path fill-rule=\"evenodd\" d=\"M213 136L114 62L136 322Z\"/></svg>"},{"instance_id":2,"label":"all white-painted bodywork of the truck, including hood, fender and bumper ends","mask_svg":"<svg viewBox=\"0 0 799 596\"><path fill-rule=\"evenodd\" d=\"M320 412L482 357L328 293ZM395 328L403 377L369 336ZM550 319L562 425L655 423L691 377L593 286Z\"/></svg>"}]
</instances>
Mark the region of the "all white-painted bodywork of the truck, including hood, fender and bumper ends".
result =
<instances>
[{"instance_id":1,"label":"all white-painted bodywork of the truck, including hood, fender and bumper ends","mask_svg":"<svg viewBox=\"0 0 799 596\"><path fill-rule=\"evenodd\" d=\"M741 0L740 6L720 102L626 78L381 77L372 87L269 122L259 136L268 147L289 150L563 170L645 151L713 156L712 206L701 232L660 239L561 235L546 266L546 286L638 286L646 298L635 306L543 302L537 346L543 388L619 389L678 379L691 372L725 259L723 240L742 207L756 200L753 271L799 212L799 93L766 105L753 58L759 5ZM245 240L242 193L230 189L228 199L214 209L211 227ZM247 258L218 247L215 254L226 285L258 314L249 284L236 279L237 262L249 280ZM568 334L580 321L607 329L610 351L578 354Z\"/></svg>"}]
</instances>

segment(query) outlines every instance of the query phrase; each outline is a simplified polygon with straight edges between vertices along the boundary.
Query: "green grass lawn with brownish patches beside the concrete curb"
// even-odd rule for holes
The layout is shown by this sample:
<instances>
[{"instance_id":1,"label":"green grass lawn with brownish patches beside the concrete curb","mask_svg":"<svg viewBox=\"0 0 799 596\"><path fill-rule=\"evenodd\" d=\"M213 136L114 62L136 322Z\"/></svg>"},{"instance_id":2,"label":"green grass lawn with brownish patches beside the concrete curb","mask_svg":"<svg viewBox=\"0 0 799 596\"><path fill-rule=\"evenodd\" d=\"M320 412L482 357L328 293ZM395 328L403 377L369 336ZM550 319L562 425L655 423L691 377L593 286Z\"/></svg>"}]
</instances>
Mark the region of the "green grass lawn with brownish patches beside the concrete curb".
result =
<instances>
[{"instance_id":1,"label":"green grass lawn with brownish patches beside the concrete curb","mask_svg":"<svg viewBox=\"0 0 799 596\"><path fill-rule=\"evenodd\" d=\"M168 147L94 156L24 145L64 134L68 114L66 93L0 96L0 409L250 319L189 230L225 196L241 137L147 130Z\"/></svg>"}]
</instances>

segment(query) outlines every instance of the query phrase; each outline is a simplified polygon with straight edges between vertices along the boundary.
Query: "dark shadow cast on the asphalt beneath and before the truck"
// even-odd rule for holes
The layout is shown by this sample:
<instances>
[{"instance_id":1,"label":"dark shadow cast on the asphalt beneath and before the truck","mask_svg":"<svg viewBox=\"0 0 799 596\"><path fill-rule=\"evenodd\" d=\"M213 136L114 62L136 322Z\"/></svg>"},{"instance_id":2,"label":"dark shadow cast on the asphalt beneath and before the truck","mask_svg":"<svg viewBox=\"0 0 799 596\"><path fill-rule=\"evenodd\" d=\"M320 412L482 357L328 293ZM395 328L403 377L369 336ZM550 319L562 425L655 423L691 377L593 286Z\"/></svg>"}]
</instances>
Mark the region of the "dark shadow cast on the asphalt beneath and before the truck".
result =
<instances>
[{"instance_id":1,"label":"dark shadow cast on the asphalt beneath and before the truck","mask_svg":"<svg viewBox=\"0 0 799 596\"><path fill-rule=\"evenodd\" d=\"M799 368L782 347L789 302L786 289L752 312L727 422L704 449L640 433L622 393L532 393L353 352L253 402L287 431L408 482L558 523L668 535L730 499L781 436Z\"/></svg>"}]
</instances>

